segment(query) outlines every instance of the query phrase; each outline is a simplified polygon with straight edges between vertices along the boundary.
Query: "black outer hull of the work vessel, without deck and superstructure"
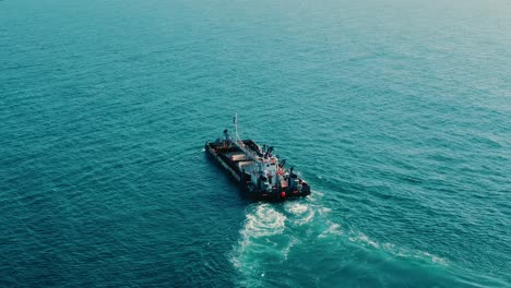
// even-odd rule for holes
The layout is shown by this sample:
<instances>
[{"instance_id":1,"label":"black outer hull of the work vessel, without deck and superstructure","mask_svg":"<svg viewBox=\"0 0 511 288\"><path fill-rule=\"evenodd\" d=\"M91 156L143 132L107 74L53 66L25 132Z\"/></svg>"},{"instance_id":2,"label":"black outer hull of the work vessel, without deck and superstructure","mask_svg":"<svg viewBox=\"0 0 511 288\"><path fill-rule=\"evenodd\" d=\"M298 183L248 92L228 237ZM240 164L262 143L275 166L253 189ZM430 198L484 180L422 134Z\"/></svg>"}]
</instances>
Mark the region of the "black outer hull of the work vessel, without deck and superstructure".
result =
<instances>
[{"instance_id":1,"label":"black outer hull of the work vessel, without deck and superstructure","mask_svg":"<svg viewBox=\"0 0 511 288\"><path fill-rule=\"evenodd\" d=\"M248 147L257 146L251 140L245 140L243 144ZM237 147L225 147L222 143L206 143L204 148L210 159L217 163L227 175L240 185L243 195L247 197L257 201L285 201L310 194L310 187L305 182L301 191L276 188L272 189L270 192L260 191L246 178L246 175L237 168L235 161L225 155L226 153L239 151Z\"/></svg>"}]
</instances>

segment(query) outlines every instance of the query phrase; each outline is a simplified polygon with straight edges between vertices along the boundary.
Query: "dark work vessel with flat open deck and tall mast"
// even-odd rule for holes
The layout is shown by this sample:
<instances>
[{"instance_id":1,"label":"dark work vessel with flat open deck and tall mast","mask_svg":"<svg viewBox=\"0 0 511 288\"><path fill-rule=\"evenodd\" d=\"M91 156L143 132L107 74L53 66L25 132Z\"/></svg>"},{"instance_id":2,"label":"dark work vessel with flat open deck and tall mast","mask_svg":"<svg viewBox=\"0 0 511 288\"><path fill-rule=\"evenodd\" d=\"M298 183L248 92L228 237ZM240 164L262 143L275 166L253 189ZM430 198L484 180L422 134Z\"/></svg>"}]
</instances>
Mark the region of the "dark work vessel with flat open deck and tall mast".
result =
<instances>
[{"instance_id":1,"label":"dark work vessel with flat open deck and tall mast","mask_svg":"<svg viewBox=\"0 0 511 288\"><path fill-rule=\"evenodd\" d=\"M234 117L235 134L224 130L224 139L205 143L205 152L216 160L243 192L254 200L284 201L310 194L310 185L298 178L286 160L273 155L273 146L258 145L238 135L238 115Z\"/></svg>"}]
</instances>

